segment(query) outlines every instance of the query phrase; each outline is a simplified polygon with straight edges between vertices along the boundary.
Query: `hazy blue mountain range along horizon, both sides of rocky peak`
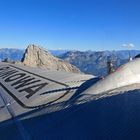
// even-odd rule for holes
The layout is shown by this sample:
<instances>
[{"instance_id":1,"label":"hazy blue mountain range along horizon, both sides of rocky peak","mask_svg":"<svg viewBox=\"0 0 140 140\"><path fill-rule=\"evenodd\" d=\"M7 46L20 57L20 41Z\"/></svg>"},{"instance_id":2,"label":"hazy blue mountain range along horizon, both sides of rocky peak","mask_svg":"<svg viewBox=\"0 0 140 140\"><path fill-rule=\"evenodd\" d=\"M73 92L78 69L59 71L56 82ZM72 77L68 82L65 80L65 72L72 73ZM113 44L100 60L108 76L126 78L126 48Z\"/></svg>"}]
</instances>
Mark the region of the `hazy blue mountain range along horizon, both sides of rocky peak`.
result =
<instances>
[{"instance_id":1,"label":"hazy blue mountain range along horizon, both sides of rocky peak","mask_svg":"<svg viewBox=\"0 0 140 140\"><path fill-rule=\"evenodd\" d=\"M14 61L21 61L25 50L20 49L0 49L0 60L5 58ZM59 57L75 65L82 72L93 75L107 74L107 61L111 60L114 66L126 63L129 53L132 57L140 53L140 50L119 50L119 51L67 51L67 50L49 50L54 56Z\"/></svg>"}]
</instances>

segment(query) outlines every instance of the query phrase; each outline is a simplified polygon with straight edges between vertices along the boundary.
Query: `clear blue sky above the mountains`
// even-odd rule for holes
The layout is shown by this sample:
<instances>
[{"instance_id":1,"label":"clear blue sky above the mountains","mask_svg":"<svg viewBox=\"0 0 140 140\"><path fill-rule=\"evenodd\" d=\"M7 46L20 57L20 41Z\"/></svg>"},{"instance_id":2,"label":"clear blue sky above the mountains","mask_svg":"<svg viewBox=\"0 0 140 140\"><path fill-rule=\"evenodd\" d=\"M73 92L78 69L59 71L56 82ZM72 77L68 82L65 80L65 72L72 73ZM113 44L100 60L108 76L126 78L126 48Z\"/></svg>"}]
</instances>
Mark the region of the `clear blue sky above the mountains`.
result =
<instances>
[{"instance_id":1,"label":"clear blue sky above the mountains","mask_svg":"<svg viewBox=\"0 0 140 140\"><path fill-rule=\"evenodd\" d=\"M139 0L1 0L0 48L114 50L140 46Z\"/></svg>"}]
</instances>

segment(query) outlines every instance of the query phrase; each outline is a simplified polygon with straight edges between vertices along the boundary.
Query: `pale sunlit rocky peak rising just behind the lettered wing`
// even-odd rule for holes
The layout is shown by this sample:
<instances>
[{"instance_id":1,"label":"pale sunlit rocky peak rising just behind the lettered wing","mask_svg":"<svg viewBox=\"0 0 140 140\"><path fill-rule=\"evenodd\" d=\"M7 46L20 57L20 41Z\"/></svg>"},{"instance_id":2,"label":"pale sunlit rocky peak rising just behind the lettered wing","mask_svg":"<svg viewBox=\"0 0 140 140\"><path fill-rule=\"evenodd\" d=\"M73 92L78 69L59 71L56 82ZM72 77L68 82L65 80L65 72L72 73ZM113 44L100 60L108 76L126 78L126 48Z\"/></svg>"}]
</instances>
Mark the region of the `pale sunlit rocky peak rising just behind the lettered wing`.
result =
<instances>
[{"instance_id":1,"label":"pale sunlit rocky peak rising just behind the lettered wing","mask_svg":"<svg viewBox=\"0 0 140 140\"><path fill-rule=\"evenodd\" d=\"M74 65L65 62L53 56L46 49L43 49L36 45L29 45L22 58L24 65L32 67L41 67L51 70L61 70L67 72L80 73L80 70Z\"/></svg>"}]
</instances>

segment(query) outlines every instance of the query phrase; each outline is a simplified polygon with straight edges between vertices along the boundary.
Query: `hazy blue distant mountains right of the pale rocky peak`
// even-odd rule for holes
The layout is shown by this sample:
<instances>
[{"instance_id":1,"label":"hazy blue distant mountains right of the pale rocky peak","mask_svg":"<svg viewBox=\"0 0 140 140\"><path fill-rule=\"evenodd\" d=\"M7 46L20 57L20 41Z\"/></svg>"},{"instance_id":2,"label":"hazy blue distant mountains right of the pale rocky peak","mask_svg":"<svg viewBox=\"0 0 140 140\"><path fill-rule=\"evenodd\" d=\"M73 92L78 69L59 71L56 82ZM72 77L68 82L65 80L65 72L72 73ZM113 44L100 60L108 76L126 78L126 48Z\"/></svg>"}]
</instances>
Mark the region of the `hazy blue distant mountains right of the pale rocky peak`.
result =
<instances>
[{"instance_id":1,"label":"hazy blue distant mountains right of the pale rocky peak","mask_svg":"<svg viewBox=\"0 0 140 140\"><path fill-rule=\"evenodd\" d=\"M140 51L131 50L132 57L139 54ZM115 67L126 63L129 58L129 51L69 51L60 56L61 59L78 67L82 72L93 75L107 74L107 61L112 60Z\"/></svg>"}]
</instances>

